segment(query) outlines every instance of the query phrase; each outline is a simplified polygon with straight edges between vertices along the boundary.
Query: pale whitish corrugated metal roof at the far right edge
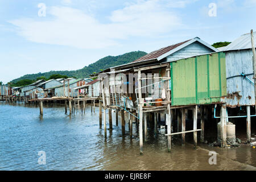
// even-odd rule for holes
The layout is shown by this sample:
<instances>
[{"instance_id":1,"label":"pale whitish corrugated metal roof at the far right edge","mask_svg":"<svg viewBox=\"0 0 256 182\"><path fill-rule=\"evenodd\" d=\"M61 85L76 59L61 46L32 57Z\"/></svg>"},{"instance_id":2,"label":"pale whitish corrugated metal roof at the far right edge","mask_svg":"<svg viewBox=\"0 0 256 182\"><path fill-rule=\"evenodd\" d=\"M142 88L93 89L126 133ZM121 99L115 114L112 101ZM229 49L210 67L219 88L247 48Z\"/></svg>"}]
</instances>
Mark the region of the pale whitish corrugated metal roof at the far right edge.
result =
<instances>
[{"instance_id":1,"label":"pale whitish corrugated metal roof at the far right edge","mask_svg":"<svg viewBox=\"0 0 256 182\"><path fill-rule=\"evenodd\" d=\"M256 32L253 32L254 35L254 44L256 47ZM251 49L251 34L244 34L237 38L228 46L225 47L223 51L232 51L232 50L241 50L241 49Z\"/></svg>"}]
</instances>

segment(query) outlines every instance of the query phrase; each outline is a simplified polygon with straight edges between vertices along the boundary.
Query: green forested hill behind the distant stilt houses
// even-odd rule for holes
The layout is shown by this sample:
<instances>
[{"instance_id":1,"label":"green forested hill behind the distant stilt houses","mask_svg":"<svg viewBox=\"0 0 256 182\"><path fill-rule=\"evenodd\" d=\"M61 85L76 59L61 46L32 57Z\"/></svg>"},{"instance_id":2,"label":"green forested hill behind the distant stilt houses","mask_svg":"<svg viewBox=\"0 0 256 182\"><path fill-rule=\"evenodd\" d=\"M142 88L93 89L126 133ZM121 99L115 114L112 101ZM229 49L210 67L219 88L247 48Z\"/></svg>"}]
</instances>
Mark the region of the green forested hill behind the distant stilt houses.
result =
<instances>
[{"instance_id":1,"label":"green forested hill behind the distant stilt houses","mask_svg":"<svg viewBox=\"0 0 256 182\"><path fill-rule=\"evenodd\" d=\"M84 67L82 69L78 69L76 71L50 71L46 73L36 73L36 74L29 74L24 75L22 77L16 78L11 81L11 83L16 83L20 80L36 80L38 77L46 77L49 78L51 75L67 75L68 77L76 77L76 78L86 78L89 77L90 74L93 72L100 72L101 69L106 69L110 67L115 67L117 65L130 63L131 61L134 61L138 59L139 57L142 57L146 55L146 52L143 51L134 51L125 53L123 55L119 56L106 56L98 61L96 61L93 64L88 65L87 67Z\"/></svg>"}]
</instances>

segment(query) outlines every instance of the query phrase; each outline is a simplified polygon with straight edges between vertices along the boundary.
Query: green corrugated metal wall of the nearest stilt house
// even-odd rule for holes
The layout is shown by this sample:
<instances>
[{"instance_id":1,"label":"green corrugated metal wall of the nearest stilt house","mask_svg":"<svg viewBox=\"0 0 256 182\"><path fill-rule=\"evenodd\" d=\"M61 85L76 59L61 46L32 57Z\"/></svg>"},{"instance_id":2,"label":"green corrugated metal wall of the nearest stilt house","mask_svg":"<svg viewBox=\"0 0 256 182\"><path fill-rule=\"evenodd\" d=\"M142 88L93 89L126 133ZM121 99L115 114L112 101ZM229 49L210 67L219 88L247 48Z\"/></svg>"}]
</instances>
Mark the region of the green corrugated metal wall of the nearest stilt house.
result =
<instances>
[{"instance_id":1,"label":"green corrugated metal wall of the nearest stilt house","mask_svg":"<svg viewBox=\"0 0 256 182\"><path fill-rule=\"evenodd\" d=\"M171 62L172 106L213 104L226 95L225 53Z\"/></svg>"}]
</instances>

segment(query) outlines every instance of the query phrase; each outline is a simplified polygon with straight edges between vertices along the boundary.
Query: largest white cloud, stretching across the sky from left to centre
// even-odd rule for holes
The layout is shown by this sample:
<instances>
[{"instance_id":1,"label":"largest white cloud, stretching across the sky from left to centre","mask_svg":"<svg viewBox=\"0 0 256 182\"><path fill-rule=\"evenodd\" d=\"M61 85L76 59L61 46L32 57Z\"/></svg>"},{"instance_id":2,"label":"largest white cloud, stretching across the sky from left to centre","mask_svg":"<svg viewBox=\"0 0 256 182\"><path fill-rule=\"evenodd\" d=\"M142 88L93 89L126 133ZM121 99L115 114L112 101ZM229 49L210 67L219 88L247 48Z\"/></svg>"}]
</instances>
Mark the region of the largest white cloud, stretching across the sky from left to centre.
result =
<instances>
[{"instance_id":1,"label":"largest white cloud, stretching across the sky from left to centre","mask_svg":"<svg viewBox=\"0 0 256 182\"><path fill-rule=\"evenodd\" d=\"M181 26L180 18L157 0L129 3L113 11L109 23L71 7L49 7L53 19L16 19L18 34L36 43L77 48L104 48L131 36L155 36Z\"/></svg>"}]
</instances>

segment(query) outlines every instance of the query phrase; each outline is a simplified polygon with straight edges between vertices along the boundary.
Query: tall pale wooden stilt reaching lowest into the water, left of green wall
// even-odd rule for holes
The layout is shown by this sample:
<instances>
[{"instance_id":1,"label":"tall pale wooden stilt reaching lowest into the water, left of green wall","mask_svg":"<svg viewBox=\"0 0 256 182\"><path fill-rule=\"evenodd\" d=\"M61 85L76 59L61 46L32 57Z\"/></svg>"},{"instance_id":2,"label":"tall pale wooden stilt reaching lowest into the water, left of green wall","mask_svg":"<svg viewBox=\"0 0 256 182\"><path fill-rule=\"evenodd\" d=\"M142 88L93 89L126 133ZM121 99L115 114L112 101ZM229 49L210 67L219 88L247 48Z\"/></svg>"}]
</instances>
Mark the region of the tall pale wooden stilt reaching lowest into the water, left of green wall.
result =
<instances>
[{"instance_id":1,"label":"tall pale wooden stilt reaching lowest into the water, left of green wall","mask_svg":"<svg viewBox=\"0 0 256 182\"><path fill-rule=\"evenodd\" d=\"M142 124L143 124L143 111L142 111L142 93L141 93L141 71L138 71L138 91L139 91L139 154L143 154L143 129L142 129Z\"/></svg>"}]
</instances>

